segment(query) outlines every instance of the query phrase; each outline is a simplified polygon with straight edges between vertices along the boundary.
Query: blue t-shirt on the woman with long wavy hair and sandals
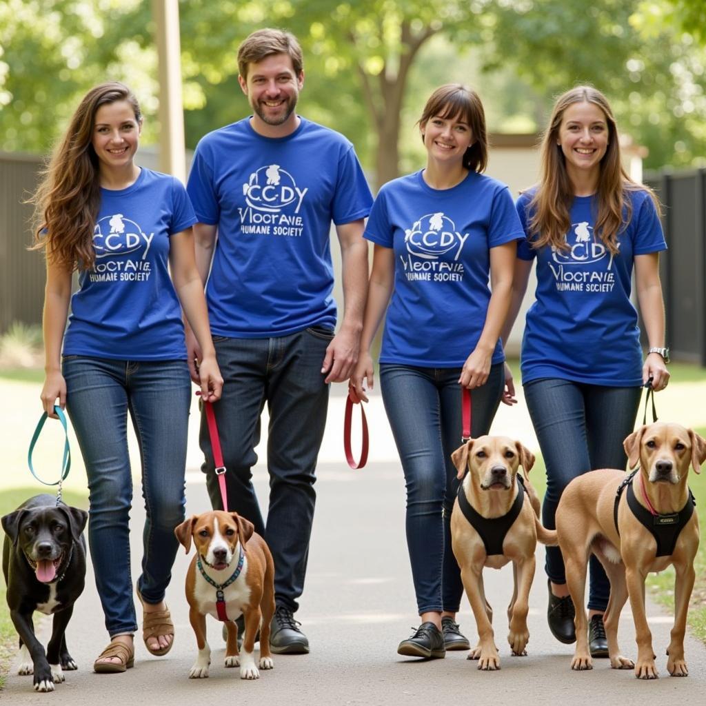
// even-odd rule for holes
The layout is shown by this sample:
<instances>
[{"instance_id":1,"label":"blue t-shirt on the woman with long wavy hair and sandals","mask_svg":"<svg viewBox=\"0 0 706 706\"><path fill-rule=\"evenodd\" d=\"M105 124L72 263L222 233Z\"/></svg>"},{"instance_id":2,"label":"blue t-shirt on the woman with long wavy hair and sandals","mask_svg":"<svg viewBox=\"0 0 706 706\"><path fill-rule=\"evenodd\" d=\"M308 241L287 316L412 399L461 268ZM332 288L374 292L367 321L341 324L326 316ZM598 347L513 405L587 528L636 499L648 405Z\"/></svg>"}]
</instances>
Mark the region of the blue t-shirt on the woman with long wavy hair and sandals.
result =
<instances>
[{"instance_id":1,"label":"blue t-shirt on the woman with long wavy hair and sandals","mask_svg":"<svg viewBox=\"0 0 706 706\"><path fill-rule=\"evenodd\" d=\"M174 177L143 167L127 189L100 190L95 265L71 297L64 355L185 360L181 307L167 263L169 236L196 217Z\"/></svg>"}]
</instances>

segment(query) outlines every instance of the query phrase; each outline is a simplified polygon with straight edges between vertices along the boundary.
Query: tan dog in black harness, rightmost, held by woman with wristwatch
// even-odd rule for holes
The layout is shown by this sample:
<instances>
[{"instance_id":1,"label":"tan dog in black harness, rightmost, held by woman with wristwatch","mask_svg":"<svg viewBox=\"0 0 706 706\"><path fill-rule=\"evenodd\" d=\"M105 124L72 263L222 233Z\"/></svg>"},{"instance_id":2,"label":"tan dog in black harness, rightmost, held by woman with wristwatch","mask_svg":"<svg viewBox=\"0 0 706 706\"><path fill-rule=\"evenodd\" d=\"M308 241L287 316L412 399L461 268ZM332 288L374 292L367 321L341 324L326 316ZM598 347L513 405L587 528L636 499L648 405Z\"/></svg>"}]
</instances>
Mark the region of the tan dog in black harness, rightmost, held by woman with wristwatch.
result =
<instances>
[{"instance_id":1,"label":"tan dog in black harness, rightmost, held by woman with wristwatch","mask_svg":"<svg viewBox=\"0 0 706 706\"><path fill-rule=\"evenodd\" d=\"M699 544L698 517L690 515L678 532L668 556L657 556L657 540L642 525L628 505L628 491L634 493L640 513L659 525L676 523L676 513L688 510L691 503L687 486L689 465L695 472L706 459L706 441L678 424L657 422L642 426L624 442L630 468L640 464L633 488L621 493L614 518L616 492L626 479L623 471L592 471L573 479L564 490L556 510L556 531L566 565L568 590L576 609L576 650L571 669L592 669L584 605L586 563L593 552L603 564L611 582L604 626L611 667L633 669L642 679L657 678L652 651L652 634L645 615L645 577L674 564L674 628L667 648L667 671L671 676L687 676L684 659L684 631L689 597L694 585L694 556ZM656 515L650 513L649 507ZM637 507L637 505L635 505ZM688 515L688 513L686 513ZM686 517L686 515L684 515ZM674 524L676 526L676 524ZM664 544L664 543L663 543ZM669 547L669 542L666 543ZM669 551L669 548L666 550ZM638 642L638 659L623 657L618 648L618 618L630 598Z\"/></svg>"}]
</instances>

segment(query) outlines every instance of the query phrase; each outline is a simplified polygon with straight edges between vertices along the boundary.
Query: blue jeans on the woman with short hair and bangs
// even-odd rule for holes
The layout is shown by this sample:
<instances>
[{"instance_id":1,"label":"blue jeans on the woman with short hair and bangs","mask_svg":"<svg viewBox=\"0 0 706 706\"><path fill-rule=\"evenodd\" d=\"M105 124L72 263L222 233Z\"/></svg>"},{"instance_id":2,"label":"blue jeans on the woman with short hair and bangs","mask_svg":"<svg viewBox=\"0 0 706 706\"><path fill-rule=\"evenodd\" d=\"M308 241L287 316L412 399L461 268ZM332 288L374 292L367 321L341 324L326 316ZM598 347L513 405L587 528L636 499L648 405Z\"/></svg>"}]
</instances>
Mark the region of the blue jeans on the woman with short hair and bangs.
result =
<instances>
[{"instance_id":1,"label":"blue jeans on the woman with short hair and bangs","mask_svg":"<svg viewBox=\"0 0 706 706\"><path fill-rule=\"evenodd\" d=\"M458 611L463 585L451 549L458 491L451 453L461 445L460 368L381 363L380 385L407 485L407 548L419 614ZM489 432L503 394L503 364L471 391L471 436Z\"/></svg>"}]
</instances>

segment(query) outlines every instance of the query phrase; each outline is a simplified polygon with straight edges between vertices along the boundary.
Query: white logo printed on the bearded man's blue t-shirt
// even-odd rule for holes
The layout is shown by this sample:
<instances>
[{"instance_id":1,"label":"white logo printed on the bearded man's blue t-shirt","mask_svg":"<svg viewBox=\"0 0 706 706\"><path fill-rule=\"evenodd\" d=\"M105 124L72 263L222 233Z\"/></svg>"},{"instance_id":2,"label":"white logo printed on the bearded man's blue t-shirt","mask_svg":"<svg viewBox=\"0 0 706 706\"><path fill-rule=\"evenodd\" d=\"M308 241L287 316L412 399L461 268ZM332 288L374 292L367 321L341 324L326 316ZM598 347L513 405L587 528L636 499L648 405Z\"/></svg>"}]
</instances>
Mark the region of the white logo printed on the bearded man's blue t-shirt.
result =
<instances>
[{"instance_id":1,"label":"white logo printed on the bearded man's blue t-shirt","mask_svg":"<svg viewBox=\"0 0 706 706\"><path fill-rule=\"evenodd\" d=\"M300 189L294 177L279 164L252 172L243 184L246 208L238 208L241 232L246 235L300 237L304 220L299 215L309 187Z\"/></svg>"}]
</instances>

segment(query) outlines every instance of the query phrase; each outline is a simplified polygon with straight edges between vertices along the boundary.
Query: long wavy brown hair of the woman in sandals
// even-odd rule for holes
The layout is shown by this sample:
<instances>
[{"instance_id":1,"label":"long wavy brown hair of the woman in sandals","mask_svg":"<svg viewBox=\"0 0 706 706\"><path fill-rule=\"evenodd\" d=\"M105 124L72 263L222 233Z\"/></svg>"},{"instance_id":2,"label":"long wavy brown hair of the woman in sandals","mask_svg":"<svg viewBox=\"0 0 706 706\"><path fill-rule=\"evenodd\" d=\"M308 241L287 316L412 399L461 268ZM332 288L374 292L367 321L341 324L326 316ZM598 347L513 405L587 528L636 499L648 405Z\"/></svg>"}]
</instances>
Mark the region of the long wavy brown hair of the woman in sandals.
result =
<instances>
[{"instance_id":1,"label":"long wavy brown hair of the woman in sandals","mask_svg":"<svg viewBox=\"0 0 706 706\"><path fill-rule=\"evenodd\" d=\"M35 244L47 260L69 270L90 269L95 263L93 231L100 208L98 157L92 145L95 114L107 103L125 100L138 124L140 105L123 83L111 81L92 88L80 102L54 149L32 203L35 204Z\"/></svg>"}]
</instances>

